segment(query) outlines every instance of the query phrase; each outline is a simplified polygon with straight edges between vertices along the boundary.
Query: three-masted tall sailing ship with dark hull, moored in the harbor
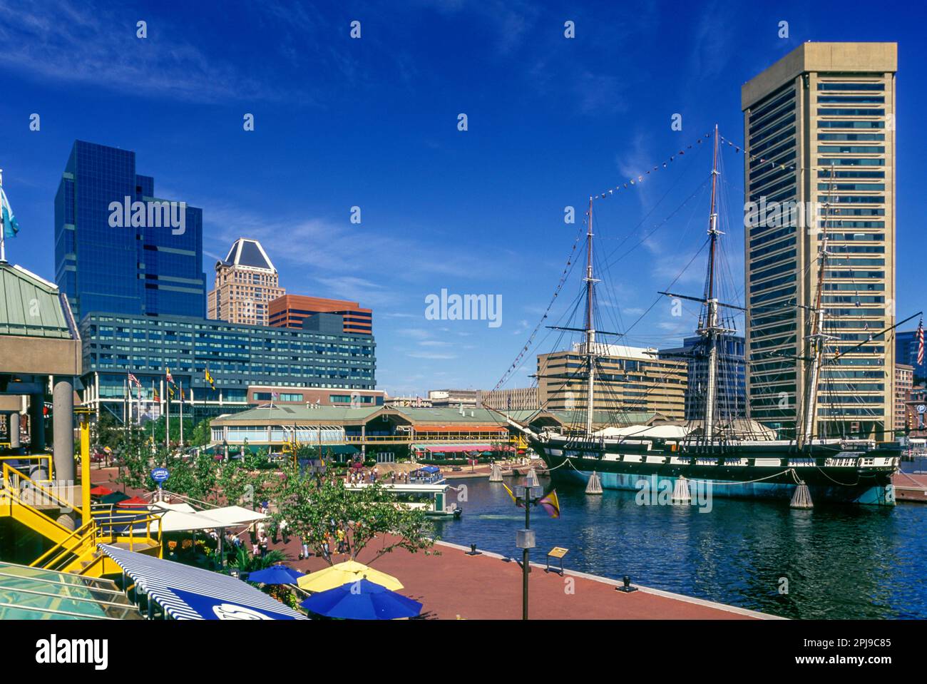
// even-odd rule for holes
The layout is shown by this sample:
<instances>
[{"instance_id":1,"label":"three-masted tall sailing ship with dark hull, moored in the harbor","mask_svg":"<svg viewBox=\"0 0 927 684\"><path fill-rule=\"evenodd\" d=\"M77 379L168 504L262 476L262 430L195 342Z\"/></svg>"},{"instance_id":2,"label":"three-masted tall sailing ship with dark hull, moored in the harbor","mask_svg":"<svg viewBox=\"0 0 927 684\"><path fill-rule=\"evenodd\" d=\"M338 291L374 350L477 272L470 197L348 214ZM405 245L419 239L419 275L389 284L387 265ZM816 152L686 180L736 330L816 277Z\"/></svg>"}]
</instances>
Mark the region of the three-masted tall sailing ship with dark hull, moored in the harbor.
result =
<instances>
[{"instance_id":1,"label":"three-masted tall sailing ship with dark hull, moored in the harbor","mask_svg":"<svg viewBox=\"0 0 927 684\"><path fill-rule=\"evenodd\" d=\"M673 499L688 501L699 491L712 496L793 500L809 507L811 501L832 501L873 505L894 505L892 475L899 466L901 451L895 443L876 440L847 440L816 435L819 383L825 348L831 336L825 332L826 309L821 303L824 271L828 260L828 231L822 232L817 291L811 308L810 330L805 355L794 359L806 364L806 384L796 411L794 438L781 439L772 430L747 419L718 415L719 349L734 331L719 310L743 308L721 302L717 297L717 177L718 135L714 137L711 176L711 207L708 220L709 254L705 290L701 298L662 292L700 304L697 333L706 362L706 386L702 420L687 424L600 426L596 430L595 388L597 345L593 312L592 198L586 234L585 330L580 346L585 362L580 375L585 380L585 425L577 429L531 428L508 419L547 464L554 478L586 484L599 479L603 488L651 491L672 488ZM827 211L830 210L828 203ZM825 223L827 213L825 213ZM556 326L549 326L556 327ZM892 328L896 327L892 326ZM892 328L886 329L883 333ZM576 328L563 328L577 330ZM881 333L882 334L882 333ZM881 335L880 334L880 335ZM844 352L845 353L845 352ZM749 363L749 358L746 361Z\"/></svg>"}]
</instances>

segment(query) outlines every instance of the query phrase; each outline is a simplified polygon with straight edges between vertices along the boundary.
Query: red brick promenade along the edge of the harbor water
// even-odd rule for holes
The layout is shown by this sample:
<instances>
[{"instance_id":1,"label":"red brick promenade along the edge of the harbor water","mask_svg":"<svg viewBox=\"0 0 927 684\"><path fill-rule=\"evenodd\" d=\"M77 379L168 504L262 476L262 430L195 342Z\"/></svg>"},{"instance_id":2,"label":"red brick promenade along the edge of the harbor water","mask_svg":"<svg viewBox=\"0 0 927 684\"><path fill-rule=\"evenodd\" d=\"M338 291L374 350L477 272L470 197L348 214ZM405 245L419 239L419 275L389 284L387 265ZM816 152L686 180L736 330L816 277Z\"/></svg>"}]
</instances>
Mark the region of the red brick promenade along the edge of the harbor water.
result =
<instances>
[{"instance_id":1,"label":"red brick promenade along the edge of the harbor water","mask_svg":"<svg viewBox=\"0 0 927 684\"><path fill-rule=\"evenodd\" d=\"M108 484L115 478L115 469L92 471L95 484ZM127 490L127 493L136 492ZM242 540L248 544L247 535ZM292 567L302 572L321 570L324 559L313 557L298 560L299 543L291 538L271 544L270 549L285 551ZM369 563L380 547L375 543L362 551L357 559ZM521 619L522 573L516 563L505 563L500 556L483 553L468 556L461 547L438 543L439 555L424 552L393 551L378 559L373 567L396 576L404 585L400 593L422 602L427 618L456 619ZM541 558L540 551L533 554ZM336 555L335 561L348 560ZM626 594L616 591L618 582L567 571L565 577L545 573L534 567L528 580L529 617L532 619L750 619L771 617L704 602L698 599L641 589Z\"/></svg>"}]
</instances>

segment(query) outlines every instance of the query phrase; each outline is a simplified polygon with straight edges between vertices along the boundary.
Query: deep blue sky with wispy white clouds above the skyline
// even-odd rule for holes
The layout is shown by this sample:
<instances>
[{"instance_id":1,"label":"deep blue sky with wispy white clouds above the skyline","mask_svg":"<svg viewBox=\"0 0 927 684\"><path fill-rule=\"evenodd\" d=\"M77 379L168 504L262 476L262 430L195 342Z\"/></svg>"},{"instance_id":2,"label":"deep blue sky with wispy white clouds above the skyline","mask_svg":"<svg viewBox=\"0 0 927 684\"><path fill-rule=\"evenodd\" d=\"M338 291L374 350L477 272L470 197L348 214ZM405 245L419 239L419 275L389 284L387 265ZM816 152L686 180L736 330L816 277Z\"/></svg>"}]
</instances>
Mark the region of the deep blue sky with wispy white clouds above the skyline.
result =
<instances>
[{"instance_id":1,"label":"deep blue sky with wispy white clouds above the skyline","mask_svg":"<svg viewBox=\"0 0 927 684\"><path fill-rule=\"evenodd\" d=\"M288 292L374 309L380 387L491 388L564 270L579 227L565 224L564 208L581 221L590 193L659 166L597 206L610 276L600 327L624 330L649 309L629 344L673 346L693 312L650 307L690 260L675 288L699 290L710 158L697 145L662 163L716 122L740 142L741 84L796 45L896 41L903 317L925 303L916 200L927 10L916 5L5 1L0 167L21 228L7 254L53 279L53 201L74 139L133 149L159 196L203 209L210 278L236 237L258 238ZM352 20L360 40L349 37ZM681 131L671 130L675 113ZM736 298L743 157L726 149L722 163ZM578 285L574 270L544 323L569 309ZM425 297L442 288L501 295L502 324L426 320ZM506 386L530 384L533 352L555 341L542 328Z\"/></svg>"}]
</instances>

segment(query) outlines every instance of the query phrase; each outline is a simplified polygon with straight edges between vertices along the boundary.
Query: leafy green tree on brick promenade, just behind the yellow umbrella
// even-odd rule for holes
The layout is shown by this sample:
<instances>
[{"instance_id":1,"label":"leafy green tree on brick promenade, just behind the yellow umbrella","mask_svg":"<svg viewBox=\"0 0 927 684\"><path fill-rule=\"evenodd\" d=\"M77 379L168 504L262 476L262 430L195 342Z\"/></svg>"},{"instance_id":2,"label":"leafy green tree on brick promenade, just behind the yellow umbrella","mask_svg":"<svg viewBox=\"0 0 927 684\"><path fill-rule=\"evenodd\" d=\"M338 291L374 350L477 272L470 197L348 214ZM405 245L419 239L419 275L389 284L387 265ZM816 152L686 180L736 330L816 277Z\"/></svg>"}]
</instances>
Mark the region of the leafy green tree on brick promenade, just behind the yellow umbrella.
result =
<instances>
[{"instance_id":1,"label":"leafy green tree on brick promenade, just behind the yellow umbrella","mask_svg":"<svg viewBox=\"0 0 927 684\"><path fill-rule=\"evenodd\" d=\"M309 475L288 465L273 501L277 521L286 520L289 531L317 552L322 552L325 540L334 536L333 524L345 531L351 560L375 538L382 545L371 563L394 549L414 553L434 545L425 512L403 506L379 483L349 491L340 477ZM334 563L331 556L328 563Z\"/></svg>"}]
</instances>

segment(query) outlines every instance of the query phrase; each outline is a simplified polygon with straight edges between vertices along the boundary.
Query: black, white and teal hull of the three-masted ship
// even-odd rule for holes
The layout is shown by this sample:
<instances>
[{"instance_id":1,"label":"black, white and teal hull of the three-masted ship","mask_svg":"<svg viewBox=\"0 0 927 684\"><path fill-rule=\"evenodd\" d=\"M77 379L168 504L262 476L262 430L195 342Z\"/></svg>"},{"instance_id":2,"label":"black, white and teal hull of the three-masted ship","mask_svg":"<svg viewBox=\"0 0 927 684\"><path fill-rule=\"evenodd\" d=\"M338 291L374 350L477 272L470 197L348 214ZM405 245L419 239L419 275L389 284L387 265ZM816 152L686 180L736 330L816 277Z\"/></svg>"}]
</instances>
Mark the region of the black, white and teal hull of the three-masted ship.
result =
<instances>
[{"instance_id":1,"label":"black, white and teal hull of the three-masted ship","mask_svg":"<svg viewBox=\"0 0 927 684\"><path fill-rule=\"evenodd\" d=\"M581 444L530 440L555 481L580 485L592 473L602 487L641 492L646 502L666 499L685 477L692 502L705 498L791 500L804 482L814 502L895 505L891 450L848 452L821 447L798 455L762 447L702 448L697 453L654 449L653 444Z\"/></svg>"}]
</instances>

